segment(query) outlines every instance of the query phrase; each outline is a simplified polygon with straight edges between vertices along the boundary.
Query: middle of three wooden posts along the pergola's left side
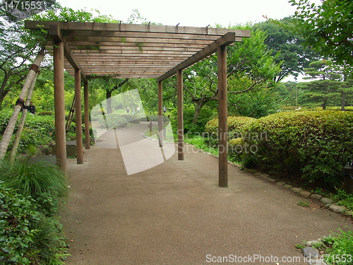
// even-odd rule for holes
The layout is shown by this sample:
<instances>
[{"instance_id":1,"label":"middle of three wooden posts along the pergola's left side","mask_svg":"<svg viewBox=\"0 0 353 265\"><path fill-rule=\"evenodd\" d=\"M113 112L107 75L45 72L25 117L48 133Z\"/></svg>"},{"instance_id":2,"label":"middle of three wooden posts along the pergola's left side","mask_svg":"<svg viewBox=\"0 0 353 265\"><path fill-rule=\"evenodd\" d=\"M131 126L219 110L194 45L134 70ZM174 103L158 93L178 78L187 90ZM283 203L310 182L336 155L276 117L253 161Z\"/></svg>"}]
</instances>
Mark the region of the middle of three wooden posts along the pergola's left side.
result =
<instances>
[{"instance_id":1,"label":"middle of three wooden posts along the pergola's left side","mask_svg":"<svg viewBox=\"0 0 353 265\"><path fill-rule=\"evenodd\" d=\"M81 107L81 71L75 70L76 160L78 164L83 164Z\"/></svg>"}]
</instances>

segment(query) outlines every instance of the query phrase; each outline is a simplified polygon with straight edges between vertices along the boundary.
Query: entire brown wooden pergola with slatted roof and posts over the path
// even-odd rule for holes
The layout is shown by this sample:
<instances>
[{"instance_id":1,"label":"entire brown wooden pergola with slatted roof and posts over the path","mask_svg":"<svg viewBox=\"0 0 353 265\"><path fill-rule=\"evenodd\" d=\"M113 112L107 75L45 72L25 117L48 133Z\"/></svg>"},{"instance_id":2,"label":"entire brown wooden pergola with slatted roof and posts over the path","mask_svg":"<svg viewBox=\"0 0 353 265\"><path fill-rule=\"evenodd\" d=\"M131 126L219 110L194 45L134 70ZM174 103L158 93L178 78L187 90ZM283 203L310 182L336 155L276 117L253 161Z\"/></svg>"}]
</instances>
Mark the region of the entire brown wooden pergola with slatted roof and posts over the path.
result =
<instances>
[{"instance_id":1,"label":"entire brown wooden pergola with slatted roof and posts over the path","mask_svg":"<svg viewBox=\"0 0 353 265\"><path fill-rule=\"evenodd\" d=\"M250 37L249 30L124 23L25 21L27 29L49 30L54 56L56 163L66 172L64 69L75 76L77 163L83 163L81 80L85 148L90 148L88 79L156 78L162 131L162 81L177 75L178 160L184 160L183 70L217 52L219 185L227 187L227 46ZM160 145L162 143L160 142Z\"/></svg>"}]
</instances>

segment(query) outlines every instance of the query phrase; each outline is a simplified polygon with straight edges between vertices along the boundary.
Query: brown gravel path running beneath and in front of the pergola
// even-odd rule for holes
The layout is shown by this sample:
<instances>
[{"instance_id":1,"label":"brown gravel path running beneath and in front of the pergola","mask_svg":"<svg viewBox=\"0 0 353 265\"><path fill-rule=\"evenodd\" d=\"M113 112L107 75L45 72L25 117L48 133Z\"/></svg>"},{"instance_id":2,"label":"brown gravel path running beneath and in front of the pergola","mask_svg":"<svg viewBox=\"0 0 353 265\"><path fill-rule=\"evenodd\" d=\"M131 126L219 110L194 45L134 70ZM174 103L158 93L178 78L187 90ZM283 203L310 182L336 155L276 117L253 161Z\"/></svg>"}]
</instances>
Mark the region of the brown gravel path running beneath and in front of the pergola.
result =
<instances>
[{"instance_id":1,"label":"brown gravel path running beneath and in front of the pergola","mask_svg":"<svg viewBox=\"0 0 353 265\"><path fill-rule=\"evenodd\" d=\"M275 257L307 264L296 243L353 228L335 213L298 206L304 199L233 165L229 187L218 187L217 158L189 145L184 161L174 154L133 175L116 148L92 146L84 160L68 161L66 264L221 264L209 261L232 255L269 261L247 264L275 264Z\"/></svg>"}]
</instances>

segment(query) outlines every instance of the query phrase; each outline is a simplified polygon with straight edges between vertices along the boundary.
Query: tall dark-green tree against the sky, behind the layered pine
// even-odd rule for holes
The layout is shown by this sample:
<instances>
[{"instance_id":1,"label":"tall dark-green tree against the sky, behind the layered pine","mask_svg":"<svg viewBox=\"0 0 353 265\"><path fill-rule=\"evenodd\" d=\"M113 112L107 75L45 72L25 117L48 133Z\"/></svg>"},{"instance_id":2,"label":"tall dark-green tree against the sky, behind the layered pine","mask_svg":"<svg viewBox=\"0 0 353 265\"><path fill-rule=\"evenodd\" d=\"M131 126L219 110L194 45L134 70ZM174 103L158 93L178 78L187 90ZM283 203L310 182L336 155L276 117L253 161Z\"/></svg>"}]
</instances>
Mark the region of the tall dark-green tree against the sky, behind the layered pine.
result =
<instances>
[{"instance_id":1,"label":"tall dark-green tree against the sky, behind the layered pine","mask_svg":"<svg viewBox=\"0 0 353 265\"><path fill-rule=\"evenodd\" d=\"M265 44L268 49L273 50L275 62L281 64L281 71L275 76L276 83L289 75L297 77L304 68L309 66L311 61L320 58L313 49L303 45L303 37L289 30L288 25L292 23L292 18L282 18L280 23L266 20L253 25L254 30L265 32Z\"/></svg>"}]
</instances>

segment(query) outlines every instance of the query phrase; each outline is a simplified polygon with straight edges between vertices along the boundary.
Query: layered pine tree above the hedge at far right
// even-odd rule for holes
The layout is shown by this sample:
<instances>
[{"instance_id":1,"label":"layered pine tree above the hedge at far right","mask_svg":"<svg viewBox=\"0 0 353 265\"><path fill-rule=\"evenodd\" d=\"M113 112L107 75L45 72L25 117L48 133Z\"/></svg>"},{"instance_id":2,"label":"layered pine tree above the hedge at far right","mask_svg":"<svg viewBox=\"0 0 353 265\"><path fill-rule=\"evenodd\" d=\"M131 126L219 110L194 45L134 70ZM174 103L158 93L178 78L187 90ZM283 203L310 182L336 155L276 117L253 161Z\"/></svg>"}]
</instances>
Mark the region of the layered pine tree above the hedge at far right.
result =
<instances>
[{"instance_id":1,"label":"layered pine tree above the hedge at far right","mask_svg":"<svg viewBox=\"0 0 353 265\"><path fill-rule=\"evenodd\" d=\"M329 102L337 102L340 98L340 80L342 76L335 72L332 61L321 60L309 64L304 69L307 79L317 79L308 83L301 83L301 88L306 90L303 97L306 102L321 102L323 110Z\"/></svg>"}]
</instances>

